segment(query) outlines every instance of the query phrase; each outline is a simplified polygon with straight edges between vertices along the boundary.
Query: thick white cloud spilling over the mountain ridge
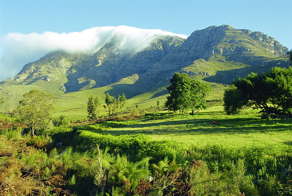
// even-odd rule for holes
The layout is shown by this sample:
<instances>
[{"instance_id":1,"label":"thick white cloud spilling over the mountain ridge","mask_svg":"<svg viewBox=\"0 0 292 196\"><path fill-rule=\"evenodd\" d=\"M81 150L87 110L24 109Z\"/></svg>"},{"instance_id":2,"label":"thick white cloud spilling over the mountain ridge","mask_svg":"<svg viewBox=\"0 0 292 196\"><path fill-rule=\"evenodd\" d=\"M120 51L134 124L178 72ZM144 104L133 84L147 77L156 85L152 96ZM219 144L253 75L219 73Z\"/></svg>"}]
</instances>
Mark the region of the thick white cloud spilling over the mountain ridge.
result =
<instances>
[{"instance_id":1,"label":"thick white cloud spilling over the mountain ridge","mask_svg":"<svg viewBox=\"0 0 292 196\"><path fill-rule=\"evenodd\" d=\"M15 76L22 67L53 51L93 54L111 39L118 39L115 51L137 53L150 46L160 35L187 38L159 29L139 29L128 26L93 27L81 32L42 34L8 33L1 37L0 81Z\"/></svg>"}]
</instances>

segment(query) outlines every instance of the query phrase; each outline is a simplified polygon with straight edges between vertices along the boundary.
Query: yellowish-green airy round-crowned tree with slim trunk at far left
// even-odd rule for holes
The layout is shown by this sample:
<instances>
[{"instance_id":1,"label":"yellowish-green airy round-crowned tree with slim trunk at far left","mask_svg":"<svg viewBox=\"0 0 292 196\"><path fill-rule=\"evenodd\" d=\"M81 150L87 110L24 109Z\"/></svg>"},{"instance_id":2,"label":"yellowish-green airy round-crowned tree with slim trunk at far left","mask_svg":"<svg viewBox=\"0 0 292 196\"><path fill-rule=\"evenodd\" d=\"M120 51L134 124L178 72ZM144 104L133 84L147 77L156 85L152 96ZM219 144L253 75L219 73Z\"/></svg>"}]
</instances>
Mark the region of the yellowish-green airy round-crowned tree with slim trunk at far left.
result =
<instances>
[{"instance_id":1,"label":"yellowish-green airy round-crowned tree with slim trunk at far left","mask_svg":"<svg viewBox=\"0 0 292 196\"><path fill-rule=\"evenodd\" d=\"M47 127L51 112L55 111L55 96L40 90L31 90L22 97L13 113L21 123L30 127L34 135L35 130Z\"/></svg>"}]
</instances>

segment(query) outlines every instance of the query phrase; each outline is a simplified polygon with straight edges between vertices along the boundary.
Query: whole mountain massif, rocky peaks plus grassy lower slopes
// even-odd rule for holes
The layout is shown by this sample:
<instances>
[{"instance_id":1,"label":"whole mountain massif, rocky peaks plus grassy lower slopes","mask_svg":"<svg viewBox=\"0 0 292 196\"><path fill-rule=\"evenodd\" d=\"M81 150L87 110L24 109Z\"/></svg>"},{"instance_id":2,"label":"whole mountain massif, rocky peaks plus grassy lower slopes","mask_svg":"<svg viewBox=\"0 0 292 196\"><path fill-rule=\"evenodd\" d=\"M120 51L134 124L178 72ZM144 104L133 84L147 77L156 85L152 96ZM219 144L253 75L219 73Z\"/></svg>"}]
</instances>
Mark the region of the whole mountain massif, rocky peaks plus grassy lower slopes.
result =
<instances>
[{"instance_id":1,"label":"whole mountain massif, rocky peaks plus grassy lower slopes","mask_svg":"<svg viewBox=\"0 0 292 196\"><path fill-rule=\"evenodd\" d=\"M196 30L187 39L160 35L137 52L119 50L122 44L116 36L94 54L49 53L0 82L0 97L10 107L31 89L71 100L67 103L80 98L78 102L84 104L89 92L98 92L102 98L106 92L113 96L124 92L128 99L140 96L147 100L166 96L165 86L174 72L186 72L216 89L215 83L226 86L238 76L289 65L288 48L274 38L228 25ZM79 107L84 109L78 104L68 106Z\"/></svg>"}]
</instances>

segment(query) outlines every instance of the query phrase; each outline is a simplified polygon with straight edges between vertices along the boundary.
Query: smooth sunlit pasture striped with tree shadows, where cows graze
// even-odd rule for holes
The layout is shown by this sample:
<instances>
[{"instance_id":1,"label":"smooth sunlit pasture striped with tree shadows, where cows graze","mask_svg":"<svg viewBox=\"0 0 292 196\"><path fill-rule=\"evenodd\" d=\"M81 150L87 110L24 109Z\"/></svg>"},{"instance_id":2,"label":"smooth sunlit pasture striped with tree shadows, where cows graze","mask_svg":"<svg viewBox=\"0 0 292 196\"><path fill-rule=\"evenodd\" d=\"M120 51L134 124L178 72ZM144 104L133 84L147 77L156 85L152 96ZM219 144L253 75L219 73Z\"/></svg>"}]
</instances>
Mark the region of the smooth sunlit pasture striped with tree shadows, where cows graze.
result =
<instances>
[{"instance_id":1,"label":"smooth sunlit pasture striped with tree shadows, where cows graze","mask_svg":"<svg viewBox=\"0 0 292 196\"><path fill-rule=\"evenodd\" d=\"M219 125L210 127L211 121L217 121ZM261 120L255 110L244 111L241 115L224 115L222 106L213 106L193 116L161 112L139 119L138 124L112 128L104 133L142 133L153 140L174 140L187 146L240 148L270 145L276 149L292 145L292 119Z\"/></svg>"}]
</instances>

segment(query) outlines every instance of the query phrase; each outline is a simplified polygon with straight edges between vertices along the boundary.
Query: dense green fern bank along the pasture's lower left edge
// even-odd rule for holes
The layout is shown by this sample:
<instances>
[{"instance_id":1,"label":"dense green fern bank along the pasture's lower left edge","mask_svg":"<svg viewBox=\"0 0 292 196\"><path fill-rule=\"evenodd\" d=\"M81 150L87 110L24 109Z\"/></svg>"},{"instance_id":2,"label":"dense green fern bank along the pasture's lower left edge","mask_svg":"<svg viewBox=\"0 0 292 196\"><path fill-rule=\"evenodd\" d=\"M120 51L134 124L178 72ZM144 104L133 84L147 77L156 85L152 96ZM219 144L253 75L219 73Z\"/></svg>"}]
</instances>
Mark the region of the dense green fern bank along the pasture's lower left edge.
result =
<instances>
[{"instance_id":1,"label":"dense green fern bank along the pasture's lower left edge","mask_svg":"<svg viewBox=\"0 0 292 196\"><path fill-rule=\"evenodd\" d=\"M114 153L114 149L119 149L122 154L129 155L134 160L153 157L154 160L158 161L166 156L173 159L176 152L183 150L180 143L174 141L150 141L147 136L142 134L112 136L88 131L79 131L79 133L75 145L81 151L90 150L91 146L97 143L100 144L100 148L110 147L112 153Z\"/></svg>"}]
</instances>

